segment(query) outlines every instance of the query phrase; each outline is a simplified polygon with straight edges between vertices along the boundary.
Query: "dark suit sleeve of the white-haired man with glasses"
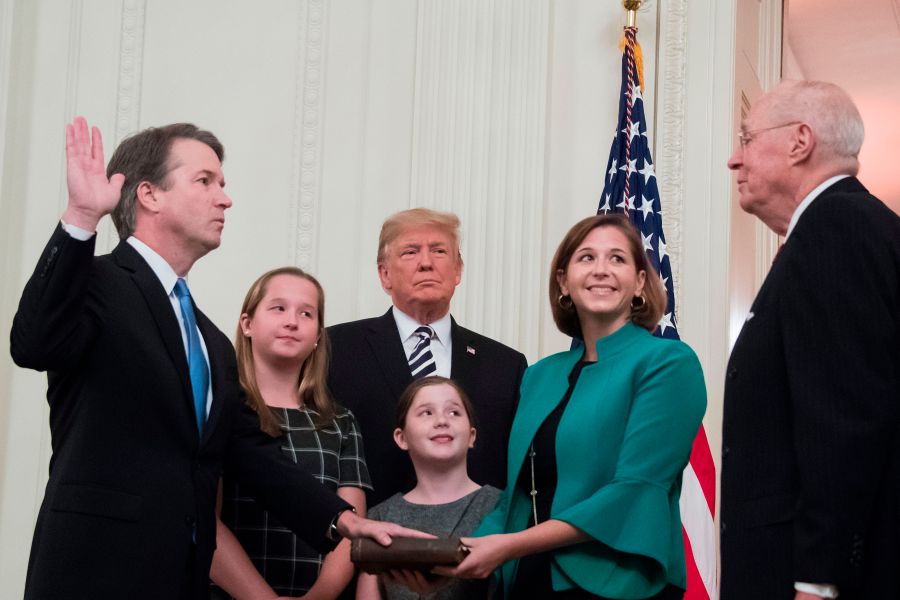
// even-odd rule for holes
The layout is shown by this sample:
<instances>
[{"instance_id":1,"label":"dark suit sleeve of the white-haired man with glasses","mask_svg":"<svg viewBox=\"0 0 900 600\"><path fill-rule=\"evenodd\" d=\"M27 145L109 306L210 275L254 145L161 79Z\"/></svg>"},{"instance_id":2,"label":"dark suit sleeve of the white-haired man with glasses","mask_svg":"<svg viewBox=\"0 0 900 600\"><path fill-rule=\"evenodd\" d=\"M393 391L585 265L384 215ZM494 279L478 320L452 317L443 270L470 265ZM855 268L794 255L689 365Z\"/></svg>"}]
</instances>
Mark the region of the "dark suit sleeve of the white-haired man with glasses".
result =
<instances>
[{"instance_id":1,"label":"dark suit sleeve of the white-haired man with glasses","mask_svg":"<svg viewBox=\"0 0 900 600\"><path fill-rule=\"evenodd\" d=\"M896 219L861 210L870 200L813 203L778 259L791 282L779 310L800 478L796 581L852 578L900 420L900 234Z\"/></svg>"}]
</instances>

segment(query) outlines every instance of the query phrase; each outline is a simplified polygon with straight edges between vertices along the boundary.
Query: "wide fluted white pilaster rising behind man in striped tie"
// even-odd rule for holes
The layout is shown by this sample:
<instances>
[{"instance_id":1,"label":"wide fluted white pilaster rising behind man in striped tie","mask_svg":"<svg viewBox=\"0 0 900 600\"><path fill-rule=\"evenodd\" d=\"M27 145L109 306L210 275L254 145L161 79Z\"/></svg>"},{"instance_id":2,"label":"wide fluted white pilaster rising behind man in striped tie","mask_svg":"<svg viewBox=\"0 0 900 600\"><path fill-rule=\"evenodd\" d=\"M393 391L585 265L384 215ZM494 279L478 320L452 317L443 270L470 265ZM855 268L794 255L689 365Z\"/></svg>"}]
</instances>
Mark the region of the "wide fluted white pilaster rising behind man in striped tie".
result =
<instances>
[{"instance_id":1,"label":"wide fluted white pilaster rising behind man in striped tie","mask_svg":"<svg viewBox=\"0 0 900 600\"><path fill-rule=\"evenodd\" d=\"M537 355L552 2L418 5L411 198L462 220L454 314Z\"/></svg>"}]
</instances>

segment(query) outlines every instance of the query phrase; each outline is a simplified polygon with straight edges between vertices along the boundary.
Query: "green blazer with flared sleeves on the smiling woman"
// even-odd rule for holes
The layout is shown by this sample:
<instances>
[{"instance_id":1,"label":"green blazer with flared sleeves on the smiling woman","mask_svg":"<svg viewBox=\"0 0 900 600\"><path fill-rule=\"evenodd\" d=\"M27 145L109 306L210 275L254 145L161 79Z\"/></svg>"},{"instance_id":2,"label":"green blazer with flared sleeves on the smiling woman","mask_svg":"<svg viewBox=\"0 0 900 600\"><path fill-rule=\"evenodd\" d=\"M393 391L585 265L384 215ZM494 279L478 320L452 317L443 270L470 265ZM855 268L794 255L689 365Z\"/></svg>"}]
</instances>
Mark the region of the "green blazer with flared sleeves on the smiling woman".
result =
<instances>
[{"instance_id":1,"label":"green blazer with flared sleeves on the smiling woman","mask_svg":"<svg viewBox=\"0 0 900 600\"><path fill-rule=\"evenodd\" d=\"M509 440L508 486L474 535L528 526L531 498L516 487L535 433L568 389L581 349L529 367ZM555 590L646 598L687 587L678 500L681 474L706 410L700 362L686 344L628 323L597 341L559 424L559 482L551 517L593 539L553 551ZM518 561L501 565L508 593Z\"/></svg>"}]
</instances>

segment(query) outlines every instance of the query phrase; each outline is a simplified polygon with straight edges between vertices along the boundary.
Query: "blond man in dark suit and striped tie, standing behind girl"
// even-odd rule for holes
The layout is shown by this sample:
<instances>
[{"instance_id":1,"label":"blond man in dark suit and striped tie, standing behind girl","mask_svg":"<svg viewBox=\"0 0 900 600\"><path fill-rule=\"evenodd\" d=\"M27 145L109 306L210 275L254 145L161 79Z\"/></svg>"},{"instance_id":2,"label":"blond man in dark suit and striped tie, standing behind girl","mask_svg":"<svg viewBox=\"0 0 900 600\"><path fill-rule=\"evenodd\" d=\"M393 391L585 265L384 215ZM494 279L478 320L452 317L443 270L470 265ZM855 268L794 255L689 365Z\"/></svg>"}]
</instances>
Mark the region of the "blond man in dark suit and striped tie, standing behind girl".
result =
<instances>
[{"instance_id":1,"label":"blond man in dark suit and striped tie, standing behind girl","mask_svg":"<svg viewBox=\"0 0 900 600\"><path fill-rule=\"evenodd\" d=\"M378 276L393 306L380 317L328 328L328 385L359 420L375 488L370 505L415 483L409 458L393 440L397 399L414 376L451 377L466 390L478 421L469 475L506 485L506 446L527 363L450 316L462 269L456 215L399 212L384 222L378 241Z\"/></svg>"}]
</instances>

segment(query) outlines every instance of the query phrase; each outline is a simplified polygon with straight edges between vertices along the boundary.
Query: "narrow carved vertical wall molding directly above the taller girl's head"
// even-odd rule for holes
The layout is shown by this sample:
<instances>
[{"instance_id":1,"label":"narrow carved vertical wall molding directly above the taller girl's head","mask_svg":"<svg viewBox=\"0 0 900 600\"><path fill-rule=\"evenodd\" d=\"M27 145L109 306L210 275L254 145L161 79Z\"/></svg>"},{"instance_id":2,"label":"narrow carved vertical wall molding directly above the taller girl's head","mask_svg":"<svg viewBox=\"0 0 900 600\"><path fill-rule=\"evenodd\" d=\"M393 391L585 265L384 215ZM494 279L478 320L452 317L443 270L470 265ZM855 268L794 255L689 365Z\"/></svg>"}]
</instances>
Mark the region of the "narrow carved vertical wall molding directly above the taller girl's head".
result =
<instances>
[{"instance_id":1,"label":"narrow carved vertical wall molding directly above the taller girl's head","mask_svg":"<svg viewBox=\"0 0 900 600\"><path fill-rule=\"evenodd\" d=\"M307 0L299 11L297 81L294 100L293 226L290 247L294 262L309 269L315 264L316 205L321 197L322 141L327 0Z\"/></svg>"}]
</instances>

